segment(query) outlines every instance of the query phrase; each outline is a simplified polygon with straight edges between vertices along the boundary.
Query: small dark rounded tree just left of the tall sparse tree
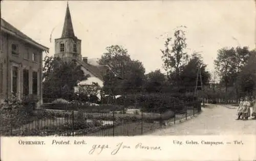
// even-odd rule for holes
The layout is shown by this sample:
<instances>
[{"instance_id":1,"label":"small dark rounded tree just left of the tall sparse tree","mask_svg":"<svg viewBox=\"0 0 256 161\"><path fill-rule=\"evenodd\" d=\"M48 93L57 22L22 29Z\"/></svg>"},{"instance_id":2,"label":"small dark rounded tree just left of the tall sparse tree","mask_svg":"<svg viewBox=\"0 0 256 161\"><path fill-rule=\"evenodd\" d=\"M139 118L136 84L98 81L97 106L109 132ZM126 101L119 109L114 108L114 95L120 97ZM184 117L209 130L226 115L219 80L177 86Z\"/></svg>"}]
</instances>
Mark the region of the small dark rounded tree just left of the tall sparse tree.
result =
<instances>
[{"instance_id":1,"label":"small dark rounded tree just left of the tall sparse tree","mask_svg":"<svg viewBox=\"0 0 256 161\"><path fill-rule=\"evenodd\" d=\"M166 87L166 77L160 70L152 71L145 75L145 90L147 92L161 92Z\"/></svg>"}]
</instances>

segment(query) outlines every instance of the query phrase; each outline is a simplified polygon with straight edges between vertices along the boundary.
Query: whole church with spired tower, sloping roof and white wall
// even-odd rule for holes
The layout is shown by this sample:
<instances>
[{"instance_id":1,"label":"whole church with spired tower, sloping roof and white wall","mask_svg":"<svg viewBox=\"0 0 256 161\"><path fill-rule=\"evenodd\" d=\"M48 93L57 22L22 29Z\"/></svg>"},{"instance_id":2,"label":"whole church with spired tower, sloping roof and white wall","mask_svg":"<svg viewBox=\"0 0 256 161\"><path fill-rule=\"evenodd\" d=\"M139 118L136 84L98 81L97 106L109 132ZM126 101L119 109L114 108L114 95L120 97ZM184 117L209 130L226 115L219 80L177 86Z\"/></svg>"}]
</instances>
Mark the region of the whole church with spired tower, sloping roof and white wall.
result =
<instances>
[{"instance_id":1,"label":"whole church with spired tower, sloping roof and white wall","mask_svg":"<svg viewBox=\"0 0 256 161\"><path fill-rule=\"evenodd\" d=\"M63 24L61 37L55 39L54 57L59 57L65 61L75 60L78 65L81 65L85 75L90 75L87 80L80 82L80 86L90 86L97 83L100 87L103 86L102 74L108 69L107 66L92 64L88 57L82 57L81 40L74 34L69 4L67 4L66 16ZM77 88L75 88L77 90Z\"/></svg>"}]
</instances>

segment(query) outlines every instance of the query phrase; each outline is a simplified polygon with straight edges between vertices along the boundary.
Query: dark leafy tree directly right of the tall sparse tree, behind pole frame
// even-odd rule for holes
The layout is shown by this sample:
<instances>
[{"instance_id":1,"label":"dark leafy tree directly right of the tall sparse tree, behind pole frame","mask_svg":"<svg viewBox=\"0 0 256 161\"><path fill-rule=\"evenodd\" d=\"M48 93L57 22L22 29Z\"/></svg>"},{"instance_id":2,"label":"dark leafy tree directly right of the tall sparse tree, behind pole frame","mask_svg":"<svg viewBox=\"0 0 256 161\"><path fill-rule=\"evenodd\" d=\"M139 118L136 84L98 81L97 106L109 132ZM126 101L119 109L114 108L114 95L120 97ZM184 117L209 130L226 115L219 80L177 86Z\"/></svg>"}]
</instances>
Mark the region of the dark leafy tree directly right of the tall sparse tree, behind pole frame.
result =
<instances>
[{"instance_id":1,"label":"dark leafy tree directly right of the tall sparse tree, behind pole frame","mask_svg":"<svg viewBox=\"0 0 256 161\"><path fill-rule=\"evenodd\" d=\"M186 91L193 91L195 89L199 67L201 70L203 86L209 83L210 73L206 70L207 65L203 63L202 57L199 53L194 53L189 62L184 65L180 75L182 80L180 84L183 85L183 88ZM198 77L198 85L201 85L200 77Z\"/></svg>"}]
</instances>

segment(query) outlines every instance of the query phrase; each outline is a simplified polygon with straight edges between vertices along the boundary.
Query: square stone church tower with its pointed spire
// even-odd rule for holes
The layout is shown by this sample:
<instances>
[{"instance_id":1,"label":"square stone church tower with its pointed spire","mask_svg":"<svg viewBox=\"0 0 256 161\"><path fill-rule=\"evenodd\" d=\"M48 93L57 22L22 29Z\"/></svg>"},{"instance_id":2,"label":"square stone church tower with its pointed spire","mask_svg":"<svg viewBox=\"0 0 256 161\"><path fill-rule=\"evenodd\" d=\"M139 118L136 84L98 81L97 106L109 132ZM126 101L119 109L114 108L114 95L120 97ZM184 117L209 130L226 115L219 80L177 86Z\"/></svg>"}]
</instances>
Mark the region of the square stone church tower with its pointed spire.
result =
<instances>
[{"instance_id":1,"label":"square stone church tower with its pointed spire","mask_svg":"<svg viewBox=\"0 0 256 161\"><path fill-rule=\"evenodd\" d=\"M65 61L71 61L73 59L82 60L81 40L77 39L74 34L69 4L67 4L61 37L55 39L54 57L60 57Z\"/></svg>"}]
</instances>

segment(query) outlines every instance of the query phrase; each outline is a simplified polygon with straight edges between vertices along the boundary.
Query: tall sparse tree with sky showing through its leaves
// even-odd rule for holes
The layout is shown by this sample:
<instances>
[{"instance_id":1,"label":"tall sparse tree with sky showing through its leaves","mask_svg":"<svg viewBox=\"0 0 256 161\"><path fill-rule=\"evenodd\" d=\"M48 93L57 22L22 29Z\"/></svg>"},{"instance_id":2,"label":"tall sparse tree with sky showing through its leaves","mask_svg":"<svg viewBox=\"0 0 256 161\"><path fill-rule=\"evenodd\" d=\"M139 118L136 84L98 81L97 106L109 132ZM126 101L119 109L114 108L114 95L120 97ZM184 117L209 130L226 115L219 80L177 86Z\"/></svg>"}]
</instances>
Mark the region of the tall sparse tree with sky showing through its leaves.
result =
<instances>
[{"instance_id":1,"label":"tall sparse tree with sky showing through its leaves","mask_svg":"<svg viewBox=\"0 0 256 161\"><path fill-rule=\"evenodd\" d=\"M176 77L180 75L180 67L188 58L187 53L184 51L186 46L185 31L181 29L176 29L174 38L167 37L165 48L161 50L163 66L167 74L175 73Z\"/></svg>"}]
</instances>

